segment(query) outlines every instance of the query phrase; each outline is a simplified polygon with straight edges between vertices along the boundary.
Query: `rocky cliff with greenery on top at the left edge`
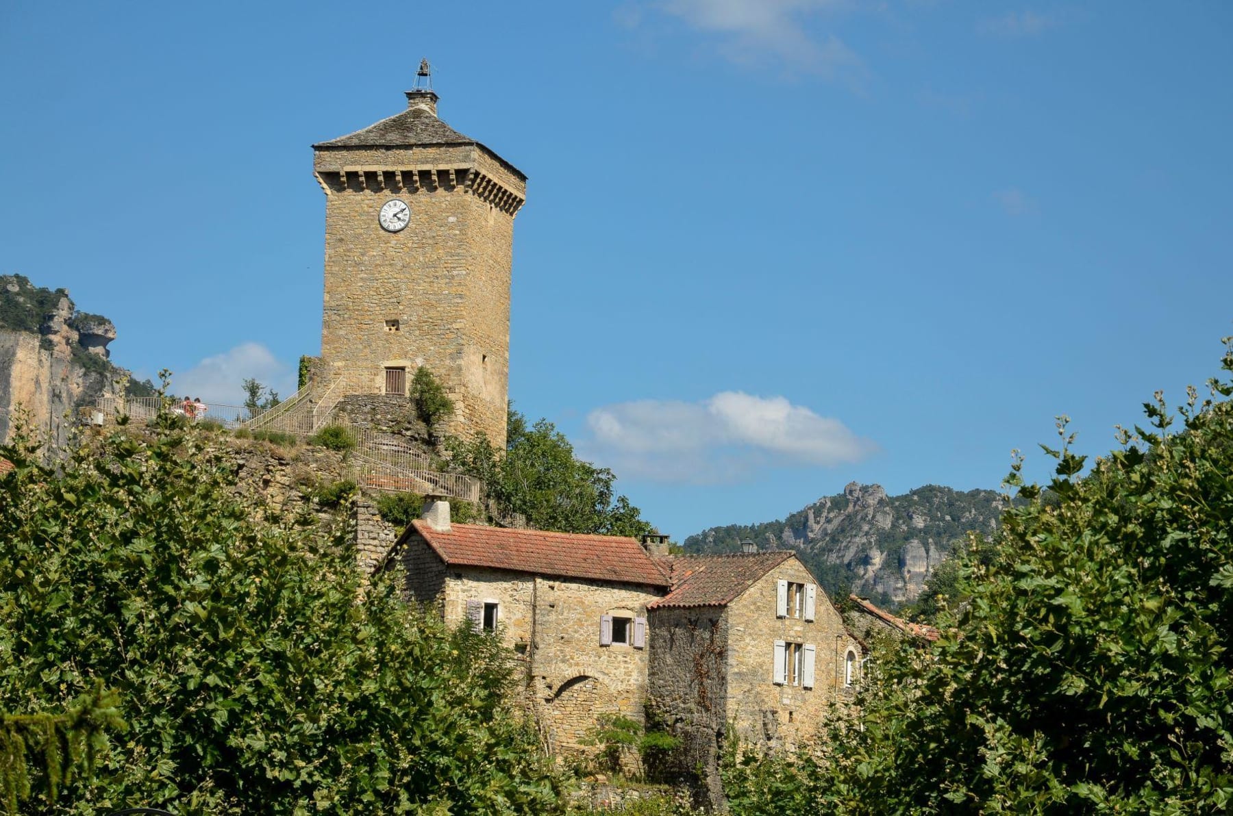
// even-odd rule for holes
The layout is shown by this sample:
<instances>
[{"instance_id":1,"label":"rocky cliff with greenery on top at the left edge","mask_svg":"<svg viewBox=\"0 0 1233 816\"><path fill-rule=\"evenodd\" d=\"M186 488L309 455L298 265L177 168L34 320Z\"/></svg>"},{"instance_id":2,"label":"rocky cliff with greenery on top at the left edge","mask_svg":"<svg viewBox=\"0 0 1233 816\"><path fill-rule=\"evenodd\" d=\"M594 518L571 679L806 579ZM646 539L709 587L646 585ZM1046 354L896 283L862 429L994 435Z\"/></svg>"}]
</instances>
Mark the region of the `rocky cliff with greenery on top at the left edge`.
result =
<instances>
[{"instance_id":1,"label":"rocky cliff with greenery on top at the left edge","mask_svg":"<svg viewBox=\"0 0 1233 816\"><path fill-rule=\"evenodd\" d=\"M53 446L68 441L79 406L112 393L128 372L111 364L116 327L78 312L68 290L35 286L0 275L0 441L15 412L28 412L35 430ZM133 383L131 392L141 392Z\"/></svg>"}]
</instances>

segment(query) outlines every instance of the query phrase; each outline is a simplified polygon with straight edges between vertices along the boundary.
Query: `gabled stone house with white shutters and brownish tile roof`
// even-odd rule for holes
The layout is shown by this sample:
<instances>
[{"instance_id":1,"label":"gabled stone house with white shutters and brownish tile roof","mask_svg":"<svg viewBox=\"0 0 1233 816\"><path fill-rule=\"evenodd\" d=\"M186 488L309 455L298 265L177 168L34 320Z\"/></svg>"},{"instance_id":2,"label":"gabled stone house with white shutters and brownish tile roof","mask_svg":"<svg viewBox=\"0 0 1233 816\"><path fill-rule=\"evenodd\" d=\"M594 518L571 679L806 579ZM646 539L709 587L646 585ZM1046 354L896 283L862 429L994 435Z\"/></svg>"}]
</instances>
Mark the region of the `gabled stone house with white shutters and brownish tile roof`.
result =
<instances>
[{"instance_id":1,"label":"gabled stone house with white shutters and brownish tile roof","mask_svg":"<svg viewBox=\"0 0 1233 816\"><path fill-rule=\"evenodd\" d=\"M795 749L853 693L863 653L792 551L678 556L672 592L650 604L650 709L684 741L721 799L729 728L752 746Z\"/></svg>"}]
</instances>

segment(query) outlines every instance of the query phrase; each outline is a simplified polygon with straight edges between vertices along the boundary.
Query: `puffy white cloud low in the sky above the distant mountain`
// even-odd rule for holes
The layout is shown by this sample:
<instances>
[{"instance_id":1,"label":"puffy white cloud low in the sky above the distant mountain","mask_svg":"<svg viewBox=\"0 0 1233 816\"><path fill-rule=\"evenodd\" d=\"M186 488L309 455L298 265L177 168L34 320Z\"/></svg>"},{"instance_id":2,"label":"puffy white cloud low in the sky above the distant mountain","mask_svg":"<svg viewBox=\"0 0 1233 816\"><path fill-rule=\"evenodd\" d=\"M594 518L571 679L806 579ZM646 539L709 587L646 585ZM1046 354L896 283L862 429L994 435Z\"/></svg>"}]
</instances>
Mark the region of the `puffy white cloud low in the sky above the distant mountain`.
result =
<instances>
[{"instance_id":1,"label":"puffy white cloud low in the sky above the distant mountain","mask_svg":"<svg viewBox=\"0 0 1233 816\"><path fill-rule=\"evenodd\" d=\"M784 397L737 391L702 402L604 406L588 414L587 425L587 455L618 475L656 481L737 481L758 467L843 465L875 450L838 419Z\"/></svg>"}]
</instances>

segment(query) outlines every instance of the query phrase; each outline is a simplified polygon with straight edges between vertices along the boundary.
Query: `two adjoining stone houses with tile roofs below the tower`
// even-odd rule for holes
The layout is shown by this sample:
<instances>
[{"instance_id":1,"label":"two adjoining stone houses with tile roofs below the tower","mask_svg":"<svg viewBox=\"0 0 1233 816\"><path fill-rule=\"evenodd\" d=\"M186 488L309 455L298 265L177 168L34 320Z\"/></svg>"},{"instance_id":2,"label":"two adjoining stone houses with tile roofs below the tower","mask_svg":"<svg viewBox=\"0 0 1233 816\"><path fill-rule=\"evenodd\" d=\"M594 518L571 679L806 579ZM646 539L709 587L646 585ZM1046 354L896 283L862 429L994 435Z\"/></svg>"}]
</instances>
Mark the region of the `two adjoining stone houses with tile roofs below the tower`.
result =
<instances>
[{"instance_id":1,"label":"two adjoining stone houses with tile roofs below the tower","mask_svg":"<svg viewBox=\"0 0 1233 816\"><path fill-rule=\"evenodd\" d=\"M794 749L851 698L863 655L792 551L668 556L665 536L451 524L438 500L376 568L395 565L409 598L522 656L554 753L582 749L600 715L650 712L716 802L729 730Z\"/></svg>"}]
</instances>

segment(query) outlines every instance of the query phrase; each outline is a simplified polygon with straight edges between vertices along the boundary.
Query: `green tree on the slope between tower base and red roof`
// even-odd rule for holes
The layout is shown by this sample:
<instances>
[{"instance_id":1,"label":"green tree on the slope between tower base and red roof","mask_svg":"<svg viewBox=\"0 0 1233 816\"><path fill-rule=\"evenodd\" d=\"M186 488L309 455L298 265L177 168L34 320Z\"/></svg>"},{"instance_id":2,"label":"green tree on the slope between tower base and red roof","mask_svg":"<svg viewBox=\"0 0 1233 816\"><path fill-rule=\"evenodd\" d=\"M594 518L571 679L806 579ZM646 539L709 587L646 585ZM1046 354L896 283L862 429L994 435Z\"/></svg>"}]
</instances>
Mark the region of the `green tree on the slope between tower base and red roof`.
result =
<instances>
[{"instance_id":1,"label":"green tree on the slope between tower base and red roof","mask_svg":"<svg viewBox=\"0 0 1233 816\"><path fill-rule=\"evenodd\" d=\"M455 467L481 479L499 515L522 514L539 530L639 536L651 532L641 512L614 496L616 476L575 456L573 445L546 419L531 426L509 409L506 450L483 434L446 440Z\"/></svg>"}]
</instances>

